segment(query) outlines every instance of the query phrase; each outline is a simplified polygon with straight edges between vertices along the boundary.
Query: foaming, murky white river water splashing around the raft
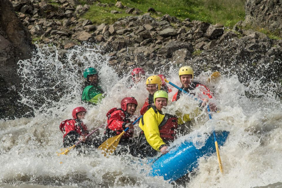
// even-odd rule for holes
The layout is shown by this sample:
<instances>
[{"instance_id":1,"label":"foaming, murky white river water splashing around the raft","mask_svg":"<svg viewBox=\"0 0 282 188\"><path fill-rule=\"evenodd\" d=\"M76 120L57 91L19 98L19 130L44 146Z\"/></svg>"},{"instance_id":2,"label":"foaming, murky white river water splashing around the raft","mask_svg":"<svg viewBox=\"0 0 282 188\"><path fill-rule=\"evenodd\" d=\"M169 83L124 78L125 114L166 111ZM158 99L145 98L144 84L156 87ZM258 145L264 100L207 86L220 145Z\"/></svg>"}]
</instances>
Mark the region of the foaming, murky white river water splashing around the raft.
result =
<instances>
[{"instance_id":1,"label":"foaming, murky white river water splashing around the raft","mask_svg":"<svg viewBox=\"0 0 282 188\"><path fill-rule=\"evenodd\" d=\"M61 61L64 58L66 61ZM57 156L62 148L59 124L70 119L72 109L84 106L85 123L90 130L106 121L106 113L119 107L126 96L138 101L139 115L148 95L145 81L128 89L130 70L118 75L107 65L109 57L98 53L98 47L77 47L61 57L55 47L38 49L30 60L20 61L18 73L23 79L22 98L34 110L31 118L0 120L0 187L173 187L162 177L150 177L150 164L130 155L104 157L97 150L78 155L75 150ZM99 70L103 90L107 93L100 105L82 103L82 70L89 66ZM197 66L197 65L194 65ZM146 76L164 73L168 80L181 85L178 68L169 63L147 71ZM203 72L195 80L206 84L216 95L211 102L221 109L212 113L194 113L197 102L183 96L170 102L165 112L182 111L194 116L191 134L180 137L174 145L186 139L199 142L198 134L212 130L229 131L220 148L224 172L219 171L216 154L199 159L199 167L190 175L187 187L282 187L282 104L273 93L261 93L260 81L250 81L246 87L236 75L223 75L207 81L212 72ZM173 94L169 93L171 100ZM248 98L245 91L260 95ZM27 114L28 115L28 114ZM140 129L135 126L135 136ZM104 128L95 136L101 137Z\"/></svg>"}]
</instances>

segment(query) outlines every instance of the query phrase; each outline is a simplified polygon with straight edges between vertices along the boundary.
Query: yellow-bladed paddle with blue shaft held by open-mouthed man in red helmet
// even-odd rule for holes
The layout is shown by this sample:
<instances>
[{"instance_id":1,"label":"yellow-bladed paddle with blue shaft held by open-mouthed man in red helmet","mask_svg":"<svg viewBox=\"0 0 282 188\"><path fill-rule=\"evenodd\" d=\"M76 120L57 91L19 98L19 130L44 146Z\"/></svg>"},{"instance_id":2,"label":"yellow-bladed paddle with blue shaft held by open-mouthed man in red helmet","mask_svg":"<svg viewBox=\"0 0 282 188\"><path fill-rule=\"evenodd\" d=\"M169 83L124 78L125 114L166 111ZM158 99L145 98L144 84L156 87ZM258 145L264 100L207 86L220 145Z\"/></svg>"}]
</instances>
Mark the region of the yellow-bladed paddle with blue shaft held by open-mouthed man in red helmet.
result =
<instances>
[{"instance_id":1,"label":"yellow-bladed paddle with blue shaft held by open-mouthed man in red helmet","mask_svg":"<svg viewBox=\"0 0 282 188\"><path fill-rule=\"evenodd\" d=\"M135 125L140 119L141 119L142 115L140 117L138 117L137 120L135 120L135 122L132 123L132 125ZM105 142L103 142L103 144L101 144L98 148L101 150L104 150L104 156L107 155L107 153L112 154L115 149L117 148L118 142L120 142L120 138L122 137L122 135L129 129L129 127L127 127L125 130L122 131L122 133L120 133L117 136L111 137L108 140L106 140Z\"/></svg>"}]
</instances>

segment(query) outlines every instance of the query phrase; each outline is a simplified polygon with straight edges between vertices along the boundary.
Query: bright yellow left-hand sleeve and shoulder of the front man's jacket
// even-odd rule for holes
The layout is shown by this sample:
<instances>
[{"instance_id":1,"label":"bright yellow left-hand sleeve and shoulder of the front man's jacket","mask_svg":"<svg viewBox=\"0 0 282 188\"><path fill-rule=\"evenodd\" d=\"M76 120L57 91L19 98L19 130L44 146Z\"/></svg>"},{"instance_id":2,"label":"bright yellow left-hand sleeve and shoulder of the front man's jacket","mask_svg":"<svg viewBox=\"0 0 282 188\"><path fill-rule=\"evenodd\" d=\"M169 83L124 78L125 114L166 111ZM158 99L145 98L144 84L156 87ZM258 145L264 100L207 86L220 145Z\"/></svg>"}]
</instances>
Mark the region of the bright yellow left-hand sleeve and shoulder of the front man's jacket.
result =
<instances>
[{"instance_id":1,"label":"bright yellow left-hand sleeve and shoulder of the front man's jacket","mask_svg":"<svg viewBox=\"0 0 282 188\"><path fill-rule=\"evenodd\" d=\"M143 119L143 120L142 120ZM164 115L157 110L155 113L153 108L147 110L139 122L139 127L143 130L147 142L154 150L160 151L159 147L165 144L160 137L159 125L164 119ZM142 123L144 122L144 124Z\"/></svg>"}]
</instances>

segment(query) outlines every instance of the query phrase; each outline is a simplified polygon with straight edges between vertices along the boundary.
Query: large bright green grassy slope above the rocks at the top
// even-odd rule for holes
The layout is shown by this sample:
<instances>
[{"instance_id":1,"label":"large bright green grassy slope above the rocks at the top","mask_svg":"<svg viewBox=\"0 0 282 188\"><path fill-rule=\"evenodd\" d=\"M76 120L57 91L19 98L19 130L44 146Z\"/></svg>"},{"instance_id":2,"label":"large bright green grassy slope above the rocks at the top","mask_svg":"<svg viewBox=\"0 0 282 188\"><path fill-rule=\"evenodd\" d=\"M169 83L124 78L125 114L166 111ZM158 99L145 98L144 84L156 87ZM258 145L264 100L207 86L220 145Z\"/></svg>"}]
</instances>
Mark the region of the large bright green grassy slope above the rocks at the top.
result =
<instances>
[{"instance_id":1,"label":"large bright green grassy slope above the rocks at the top","mask_svg":"<svg viewBox=\"0 0 282 188\"><path fill-rule=\"evenodd\" d=\"M115 0L100 1L113 6L104 8L94 4L83 17L96 24L111 24L120 17L131 15L126 14L125 9L115 7ZM149 7L162 13L162 15L155 14L153 17L169 14L170 16L176 16L181 21L190 18L191 20L206 21L211 24L219 23L229 27L234 26L239 20L244 20L245 17L245 0L123 0L122 4L140 9L143 13ZM120 11L122 14L110 14L112 10Z\"/></svg>"}]
</instances>

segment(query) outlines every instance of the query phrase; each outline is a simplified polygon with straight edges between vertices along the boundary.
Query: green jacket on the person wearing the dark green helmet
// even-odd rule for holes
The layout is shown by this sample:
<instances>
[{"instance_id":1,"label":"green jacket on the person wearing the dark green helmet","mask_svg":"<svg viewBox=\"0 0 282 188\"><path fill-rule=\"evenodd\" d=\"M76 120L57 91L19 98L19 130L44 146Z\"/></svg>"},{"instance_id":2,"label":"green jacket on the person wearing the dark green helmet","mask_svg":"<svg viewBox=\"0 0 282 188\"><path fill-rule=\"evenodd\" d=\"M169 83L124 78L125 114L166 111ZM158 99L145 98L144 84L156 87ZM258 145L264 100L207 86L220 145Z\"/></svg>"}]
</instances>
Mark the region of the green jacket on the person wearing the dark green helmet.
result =
<instances>
[{"instance_id":1,"label":"green jacket on the person wearing the dark green helmet","mask_svg":"<svg viewBox=\"0 0 282 188\"><path fill-rule=\"evenodd\" d=\"M93 104L97 104L105 96L103 96L103 90L100 86L88 85L84 88L81 96L82 101L88 101Z\"/></svg>"}]
</instances>

